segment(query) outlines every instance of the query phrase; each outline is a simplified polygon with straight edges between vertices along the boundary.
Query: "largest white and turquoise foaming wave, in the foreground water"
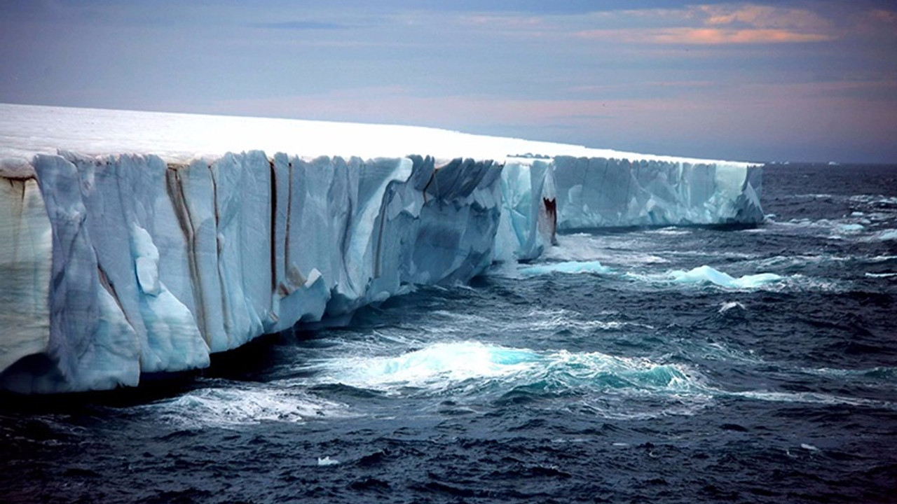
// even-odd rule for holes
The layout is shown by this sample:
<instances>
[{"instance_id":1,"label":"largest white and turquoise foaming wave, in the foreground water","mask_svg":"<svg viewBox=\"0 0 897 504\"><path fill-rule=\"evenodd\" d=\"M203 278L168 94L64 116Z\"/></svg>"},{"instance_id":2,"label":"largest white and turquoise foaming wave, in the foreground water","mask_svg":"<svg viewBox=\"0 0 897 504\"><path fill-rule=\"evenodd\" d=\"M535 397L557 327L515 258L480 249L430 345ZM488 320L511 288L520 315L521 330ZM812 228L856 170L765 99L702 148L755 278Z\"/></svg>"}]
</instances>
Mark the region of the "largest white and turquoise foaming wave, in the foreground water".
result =
<instances>
[{"instance_id":1,"label":"largest white and turquoise foaming wave, in the foreground water","mask_svg":"<svg viewBox=\"0 0 897 504\"><path fill-rule=\"evenodd\" d=\"M387 395L502 394L541 384L546 392L701 392L700 375L680 364L601 352L534 351L480 342L431 343L397 356L322 362L316 382L342 383ZM697 377L697 378L696 378Z\"/></svg>"}]
</instances>

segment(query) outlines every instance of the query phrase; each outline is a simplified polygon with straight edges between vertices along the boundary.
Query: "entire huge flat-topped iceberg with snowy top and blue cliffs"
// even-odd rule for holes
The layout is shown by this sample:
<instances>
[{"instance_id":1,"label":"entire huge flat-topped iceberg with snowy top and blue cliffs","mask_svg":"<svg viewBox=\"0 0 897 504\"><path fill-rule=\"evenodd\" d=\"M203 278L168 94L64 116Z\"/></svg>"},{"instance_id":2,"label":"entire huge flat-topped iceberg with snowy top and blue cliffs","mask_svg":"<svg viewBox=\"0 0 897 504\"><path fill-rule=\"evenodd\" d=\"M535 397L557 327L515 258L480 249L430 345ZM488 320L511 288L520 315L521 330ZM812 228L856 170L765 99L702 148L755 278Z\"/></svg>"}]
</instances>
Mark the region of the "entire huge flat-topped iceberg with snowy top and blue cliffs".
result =
<instances>
[{"instance_id":1,"label":"entire huge flat-topped iceberg with snowy top and blue cliffs","mask_svg":"<svg viewBox=\"0 0 897 504\"><path fill-rule=\"evenodd\" d=\"M0 104L0 371L134 386L555 230L760 222L758 167L380 126Z\"/></svg>"}]
</instances>

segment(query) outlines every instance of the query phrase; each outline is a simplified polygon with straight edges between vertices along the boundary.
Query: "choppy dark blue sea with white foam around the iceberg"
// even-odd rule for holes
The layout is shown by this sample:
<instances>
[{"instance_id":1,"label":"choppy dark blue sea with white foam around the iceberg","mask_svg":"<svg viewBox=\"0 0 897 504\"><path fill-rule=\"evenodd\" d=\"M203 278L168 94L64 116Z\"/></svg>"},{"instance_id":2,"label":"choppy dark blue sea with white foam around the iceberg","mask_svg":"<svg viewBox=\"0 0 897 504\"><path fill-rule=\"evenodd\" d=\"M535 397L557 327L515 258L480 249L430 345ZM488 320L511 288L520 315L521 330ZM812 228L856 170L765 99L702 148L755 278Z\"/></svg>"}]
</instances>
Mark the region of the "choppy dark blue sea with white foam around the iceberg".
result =
<instances>
[{"instance_id":1,"label":"choppy dark blue sea with white foam around the iceberg","mask_svg":"<svg viewBox=\"0 0 897 504\"><path fill-rule=\"evenodd\" d=\"M4 502L895 502L897 167L560 237L112 395L2 398ZM579 273L573 273L579 272Z\"/></svg>"}]
</instances>

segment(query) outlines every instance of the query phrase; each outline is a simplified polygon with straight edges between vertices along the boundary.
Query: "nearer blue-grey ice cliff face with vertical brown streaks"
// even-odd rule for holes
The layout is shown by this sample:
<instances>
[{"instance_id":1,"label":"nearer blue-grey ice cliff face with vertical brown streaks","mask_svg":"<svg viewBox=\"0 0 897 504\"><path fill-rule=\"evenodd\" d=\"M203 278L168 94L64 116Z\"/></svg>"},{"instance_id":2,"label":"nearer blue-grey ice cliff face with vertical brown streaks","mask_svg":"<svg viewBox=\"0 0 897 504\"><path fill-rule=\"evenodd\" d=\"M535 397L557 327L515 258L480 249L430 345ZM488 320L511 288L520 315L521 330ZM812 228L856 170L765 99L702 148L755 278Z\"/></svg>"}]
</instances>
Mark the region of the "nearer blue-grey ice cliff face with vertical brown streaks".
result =
<instances>
[{"instance_id":1,"label":"nearer blue-grey ice cliff face with vertical brown streaks","mask_svg":"<svg viewBox=\"0 0 897 504\"><path fill-rule=\"evenodd\" d=\"M134 386L415 283L464 282L492 263L500 217L491 161L256 151L33 165L0 195L13 308L0 369L19 392Z\"/></svg>"}]
</instances>

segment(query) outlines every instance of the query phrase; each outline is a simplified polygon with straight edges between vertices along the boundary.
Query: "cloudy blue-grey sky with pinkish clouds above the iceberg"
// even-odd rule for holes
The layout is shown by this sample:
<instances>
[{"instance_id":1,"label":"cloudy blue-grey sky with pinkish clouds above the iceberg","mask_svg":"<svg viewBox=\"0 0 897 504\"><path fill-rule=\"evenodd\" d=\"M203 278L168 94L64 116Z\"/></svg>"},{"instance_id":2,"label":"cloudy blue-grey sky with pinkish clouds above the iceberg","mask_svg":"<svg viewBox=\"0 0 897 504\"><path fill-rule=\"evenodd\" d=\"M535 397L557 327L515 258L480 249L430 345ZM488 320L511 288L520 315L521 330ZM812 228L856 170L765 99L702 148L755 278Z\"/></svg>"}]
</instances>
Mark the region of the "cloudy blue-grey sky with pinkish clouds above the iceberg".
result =
<instances>
[{"instance_id":1,"label":"cloudy blue-grey sky with pinkish clouds above the iceberg","mask_svg":"<svg viewBox=\"0 0 897 504\"><path fill-rule=\"evenodd\" d=\"M897 2L0 0L0 102L897 163Z\"/></svg>"}]
</instances>

